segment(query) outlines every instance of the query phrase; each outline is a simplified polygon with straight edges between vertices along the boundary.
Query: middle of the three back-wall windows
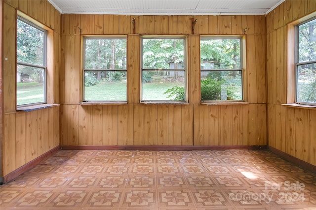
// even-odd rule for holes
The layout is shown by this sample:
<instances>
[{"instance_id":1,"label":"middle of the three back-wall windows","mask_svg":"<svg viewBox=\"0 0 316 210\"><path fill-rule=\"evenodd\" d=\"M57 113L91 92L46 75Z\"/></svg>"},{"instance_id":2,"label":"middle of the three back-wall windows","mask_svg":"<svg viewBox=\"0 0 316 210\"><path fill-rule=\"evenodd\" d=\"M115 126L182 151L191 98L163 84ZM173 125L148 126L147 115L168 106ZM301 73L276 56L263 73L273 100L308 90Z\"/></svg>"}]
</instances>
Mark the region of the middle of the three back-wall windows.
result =
<instances>
[{"instance_id":1,"label":"middle of the three back-wall windows","mask_svg":"<svg viewBox=\"0 0 316 210\"><path fill-rule=\"evenodd\" d=\"M142 102L186 101L186 39L142 37Z\"/></svg>"}]
</instances>

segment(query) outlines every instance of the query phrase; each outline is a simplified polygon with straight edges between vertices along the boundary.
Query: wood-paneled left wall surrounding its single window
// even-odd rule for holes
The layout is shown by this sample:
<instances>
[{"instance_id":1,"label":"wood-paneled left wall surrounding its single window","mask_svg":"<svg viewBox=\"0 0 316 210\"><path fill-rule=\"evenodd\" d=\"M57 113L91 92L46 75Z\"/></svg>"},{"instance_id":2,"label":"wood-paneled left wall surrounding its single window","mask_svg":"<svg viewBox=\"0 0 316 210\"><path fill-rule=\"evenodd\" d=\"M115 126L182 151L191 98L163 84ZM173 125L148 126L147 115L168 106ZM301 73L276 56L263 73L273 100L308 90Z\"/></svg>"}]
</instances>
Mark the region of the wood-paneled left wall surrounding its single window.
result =
<instances>
[{"instance_id":1,"label":"wood-paneled left wall surrounding its single window","mask_svg":"<svg viewBox=\"0 0 316 210\"><path fill-rule=\"evenodd\" d=\"M52 60L47 66L48 102L59 103L61 16L46 0L4 0L2 5L1 59L2 100L1 177L57 147L60 139L60 108L16 112L16 15L17 10L52 29Z\"/></svg>"}]
</instances>

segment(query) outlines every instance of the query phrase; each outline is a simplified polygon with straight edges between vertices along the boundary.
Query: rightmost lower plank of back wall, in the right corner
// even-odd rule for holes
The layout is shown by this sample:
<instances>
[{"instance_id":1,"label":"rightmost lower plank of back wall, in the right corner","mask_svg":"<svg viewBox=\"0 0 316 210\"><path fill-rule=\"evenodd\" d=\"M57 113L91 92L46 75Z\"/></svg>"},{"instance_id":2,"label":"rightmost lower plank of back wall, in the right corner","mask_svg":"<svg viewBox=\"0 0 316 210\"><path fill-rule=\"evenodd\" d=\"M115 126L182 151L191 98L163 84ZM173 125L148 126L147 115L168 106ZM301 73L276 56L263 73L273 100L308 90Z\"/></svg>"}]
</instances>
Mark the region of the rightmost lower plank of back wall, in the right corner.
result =
<instances>
[{"instance_id":1,"label":"rightmost lower plank of back wall, in the right corner","mask_svg":"<svg viewBox=\"0 0 316 210\"><path fill-rule=\"evenodd\" d=\"M267 106L256 104L256 145L267 145Z\"/></svg>"}]
</instances>

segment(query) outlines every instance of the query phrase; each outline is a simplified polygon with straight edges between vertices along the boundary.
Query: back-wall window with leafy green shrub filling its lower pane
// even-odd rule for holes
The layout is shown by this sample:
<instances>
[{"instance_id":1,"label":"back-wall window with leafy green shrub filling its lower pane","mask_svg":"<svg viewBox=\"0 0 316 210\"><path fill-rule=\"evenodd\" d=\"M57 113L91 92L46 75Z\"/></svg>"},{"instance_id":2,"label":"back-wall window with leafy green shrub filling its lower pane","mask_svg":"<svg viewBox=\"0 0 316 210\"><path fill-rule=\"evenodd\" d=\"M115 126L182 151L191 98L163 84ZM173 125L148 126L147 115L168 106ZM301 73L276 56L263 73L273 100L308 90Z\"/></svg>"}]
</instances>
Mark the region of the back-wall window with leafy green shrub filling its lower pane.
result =
<instances>
[{"instance_id":1,"label":"back-wall window with leafy green shrub filling its lower pane","mask_svg":"<svg viewBox=\"0 0 316 210\"><path fill-rule=\"evenodd\" d=\"M201 102L243 99L241 43L241 37L201 37Z\"/></svg>"}]
</instances>

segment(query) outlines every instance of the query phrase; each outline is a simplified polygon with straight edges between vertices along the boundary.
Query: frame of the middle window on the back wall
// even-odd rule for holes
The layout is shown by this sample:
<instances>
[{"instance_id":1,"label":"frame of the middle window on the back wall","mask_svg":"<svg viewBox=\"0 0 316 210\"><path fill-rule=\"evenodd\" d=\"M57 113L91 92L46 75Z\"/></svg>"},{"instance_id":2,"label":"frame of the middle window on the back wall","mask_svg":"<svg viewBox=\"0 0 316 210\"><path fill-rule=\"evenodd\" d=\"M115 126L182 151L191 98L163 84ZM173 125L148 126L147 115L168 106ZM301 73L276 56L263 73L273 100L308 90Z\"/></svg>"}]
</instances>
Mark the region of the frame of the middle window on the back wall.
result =
<instances>
[{"instance_id":1,"label":"frame of the middle window on the back wall","mask_svg":"<svg viewBox=\"0 0 316 210\"><path fill-rule=\"evenodd\" d=\"M183 40L183 69L150 69L143 68L143 40L144 39L182 39ZM140 37L140 103L176 104L188 103L188 37L186 35L143 35ZM178 71L184 72L184 100L144 100L143 72Z\"/></svg>"}]
</instances>

